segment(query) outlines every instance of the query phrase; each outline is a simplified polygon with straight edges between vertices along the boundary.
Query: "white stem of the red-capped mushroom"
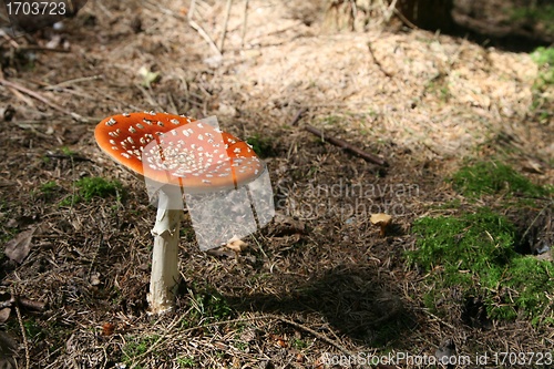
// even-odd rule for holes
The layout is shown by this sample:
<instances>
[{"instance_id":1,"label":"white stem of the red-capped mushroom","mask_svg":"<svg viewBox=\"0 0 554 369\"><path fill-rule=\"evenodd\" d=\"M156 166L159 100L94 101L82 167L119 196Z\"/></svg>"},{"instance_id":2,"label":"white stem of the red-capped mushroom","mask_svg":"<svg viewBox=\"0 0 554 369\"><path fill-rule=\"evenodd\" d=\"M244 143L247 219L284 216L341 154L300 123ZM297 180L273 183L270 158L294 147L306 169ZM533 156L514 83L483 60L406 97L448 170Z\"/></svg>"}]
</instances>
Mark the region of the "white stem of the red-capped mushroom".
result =
<instances>
[{"instance_id":1,"label":"white stem of the red-capped mushroom","mask_svg":"<svg viewBox=\"0 0 554 369\"><path fill-rule=\"evenodd\" d=\"M152 276L147 296L150 311L162 314L175 304L175 293L179 280L178 239L183 218L181 188L164 186L160 191L156 224L152 228L154 250Z\"/></svg>"}]
</instances>

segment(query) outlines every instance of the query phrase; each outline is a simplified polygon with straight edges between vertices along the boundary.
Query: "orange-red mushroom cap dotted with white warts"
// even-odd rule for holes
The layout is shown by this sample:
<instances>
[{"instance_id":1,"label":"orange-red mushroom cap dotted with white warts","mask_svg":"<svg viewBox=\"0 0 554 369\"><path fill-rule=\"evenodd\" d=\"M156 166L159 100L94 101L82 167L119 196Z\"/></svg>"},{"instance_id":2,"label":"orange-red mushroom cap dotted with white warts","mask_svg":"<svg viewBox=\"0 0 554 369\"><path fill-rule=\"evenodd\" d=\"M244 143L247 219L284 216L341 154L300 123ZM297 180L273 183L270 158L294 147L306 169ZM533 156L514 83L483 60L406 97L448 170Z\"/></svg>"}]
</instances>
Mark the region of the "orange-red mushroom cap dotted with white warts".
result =
<instances>
[{"instance_id":1,"label":"orange-red mushroom cap dotted with white warts","mask_svg":"<svg viewBox=\"0 0 554 369\"><path fill-rule=\"evenodd\" d=\"M182 115L110 116L96 125L94 137L102 151L138 175L189 192L237 188L264 171L246 142Z\"/></svg>"}]
</instances>

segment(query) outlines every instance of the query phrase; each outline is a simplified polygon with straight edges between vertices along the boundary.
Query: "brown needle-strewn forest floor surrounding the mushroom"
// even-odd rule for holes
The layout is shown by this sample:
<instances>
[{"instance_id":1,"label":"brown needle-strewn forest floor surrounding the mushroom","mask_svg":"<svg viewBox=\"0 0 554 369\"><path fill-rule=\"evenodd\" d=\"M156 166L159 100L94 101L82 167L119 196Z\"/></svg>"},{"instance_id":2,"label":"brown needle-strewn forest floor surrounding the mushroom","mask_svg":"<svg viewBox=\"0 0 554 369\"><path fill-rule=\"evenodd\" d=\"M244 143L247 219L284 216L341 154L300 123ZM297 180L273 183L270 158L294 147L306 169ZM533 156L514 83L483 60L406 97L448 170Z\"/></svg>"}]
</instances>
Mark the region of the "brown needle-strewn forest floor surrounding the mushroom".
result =
<instances>
[{"instance_id":1,"label":"brown needle-strewn forest floor surrounding the mushroom","mask_svg":"<svg viewBox=\"0 0 554 369\"><path fill-rule=\"evenodd\" d=\"M3 43L3 79L50 102L0 89L14 110L0 122L1 242L35 228L21 265L0 254L0 290L47 304L3 324L20 367L25 348L32 368L322 368L326 352L432 356L445 339L472 356L552 347L552 327L432 315L403 257L414 218L464 202L444 177L465 158L496 155L551 181L552 123L531 110L536 64L423 31L326 34L296 7L249 1L243 33L235 4L223 58L188 25L188 8L164 0L91 2L55 51L33 50L48 31L37 45L17 39L16 53ZM198 2L194 17L216 43L224 13ZM143 66L160 81L145 85ZM263 140L278 213L237 258L201 253L183 232L178 308L161 318L145 312L155 209L92 134L107 115L143 110L217 115L233 134ZM306 123L389 167L322 143ZM120 181L121 199L72 203L88 176ZM378 212L394 216L384 238L369 222ZM480 319L479 307L464 314Z\"/></svg>"}]
</instances>

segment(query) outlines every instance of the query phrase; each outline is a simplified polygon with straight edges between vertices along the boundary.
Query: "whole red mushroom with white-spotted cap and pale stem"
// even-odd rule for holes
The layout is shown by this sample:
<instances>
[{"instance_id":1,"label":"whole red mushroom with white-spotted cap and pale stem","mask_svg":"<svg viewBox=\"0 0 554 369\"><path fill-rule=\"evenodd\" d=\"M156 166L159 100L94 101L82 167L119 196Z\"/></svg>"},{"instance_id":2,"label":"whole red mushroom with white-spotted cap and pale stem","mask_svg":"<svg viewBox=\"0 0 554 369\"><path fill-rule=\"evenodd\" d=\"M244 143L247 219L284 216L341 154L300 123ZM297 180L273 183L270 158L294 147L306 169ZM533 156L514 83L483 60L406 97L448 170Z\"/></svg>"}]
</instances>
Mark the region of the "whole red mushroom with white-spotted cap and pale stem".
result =
<instances>
[{"instance_id":1,"label":"whole red mushroom with white-spotted cap and pale stem","mask_svg":"<svg viewBox=\"0 0 554 369\"><path fill-rule=\"evenodd\" d=\"M183 193L237 189L258 178L265 165L244 141L183 115L114 115L96 125L94 137L115 162L158 189L147 300L152 312L163 312L173 306L179 279Z\"/></svg>"}]
</instances>

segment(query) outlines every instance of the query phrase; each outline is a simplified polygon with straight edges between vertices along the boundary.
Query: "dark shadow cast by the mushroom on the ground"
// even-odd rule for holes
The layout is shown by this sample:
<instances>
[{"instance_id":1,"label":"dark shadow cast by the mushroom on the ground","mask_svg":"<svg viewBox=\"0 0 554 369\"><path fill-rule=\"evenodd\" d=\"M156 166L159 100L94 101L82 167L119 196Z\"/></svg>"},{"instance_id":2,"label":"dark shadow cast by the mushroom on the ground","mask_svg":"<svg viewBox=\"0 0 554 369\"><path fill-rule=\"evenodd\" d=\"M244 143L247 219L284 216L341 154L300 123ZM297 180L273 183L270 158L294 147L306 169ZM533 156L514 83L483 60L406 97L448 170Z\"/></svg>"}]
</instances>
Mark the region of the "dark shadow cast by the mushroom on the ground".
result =
<instances>
[{"instance_id":1,"label":"dark shadow cast by the mushroom on the ground","mask_svg":"<svg viewBox=\"0 0 554 369\"><path fill-rule=\"evenodd\" d=\"M389 344L413 329L416 319L393 280L370 267L342 266L276 295L226 296L237 310L270 314L319 312L334 330L366 342Z\"/></svg>"}]
</instances>

